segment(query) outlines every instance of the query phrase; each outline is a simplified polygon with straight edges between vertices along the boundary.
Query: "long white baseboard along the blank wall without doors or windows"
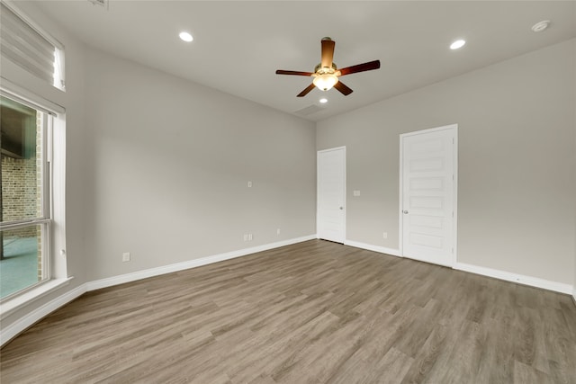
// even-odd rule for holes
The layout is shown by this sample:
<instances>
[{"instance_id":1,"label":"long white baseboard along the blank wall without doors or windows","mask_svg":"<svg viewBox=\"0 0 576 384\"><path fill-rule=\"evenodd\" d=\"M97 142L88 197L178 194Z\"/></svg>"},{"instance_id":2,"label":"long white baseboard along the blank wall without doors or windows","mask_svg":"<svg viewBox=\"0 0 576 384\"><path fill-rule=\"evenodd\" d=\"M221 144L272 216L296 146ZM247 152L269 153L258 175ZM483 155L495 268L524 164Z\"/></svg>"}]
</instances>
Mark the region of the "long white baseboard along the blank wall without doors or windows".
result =
<instances>
[{"instance_id":1,"label":"long white baseboard along the blank wall without doors or windows","mask_svg":"<svg viewBox=\"0 0 576 384\"><path fill-rule=\"evenodd\" d=\"M147 279L148 277L159 276L161 274L184 271L186 269L199 267L202 265L207 265L211 263L218 263L224 260L233 259L240 256L246 256L251 254L256 254L257 252L267 251L269 249L279 248L281 246L290 246L296 243L302 243L302 241L313 240L316 235L306 236L306 237L296 237L289 240L278 241L276 243L266 244L264 246L253 246L250 248L238 249L238 251L227 252L220 255L212 255L207 257L202 257L199 259L189 260L183 263L168 264L157 268L150 268L144 271L131 272L126 274L121 274L119 276L113 276L106 279L89 281L86 283L86 290L99 290L101 288L112 287L113 285L123 284L130 281L138 281L141 279Z\"/></svg>"}]
</instances>

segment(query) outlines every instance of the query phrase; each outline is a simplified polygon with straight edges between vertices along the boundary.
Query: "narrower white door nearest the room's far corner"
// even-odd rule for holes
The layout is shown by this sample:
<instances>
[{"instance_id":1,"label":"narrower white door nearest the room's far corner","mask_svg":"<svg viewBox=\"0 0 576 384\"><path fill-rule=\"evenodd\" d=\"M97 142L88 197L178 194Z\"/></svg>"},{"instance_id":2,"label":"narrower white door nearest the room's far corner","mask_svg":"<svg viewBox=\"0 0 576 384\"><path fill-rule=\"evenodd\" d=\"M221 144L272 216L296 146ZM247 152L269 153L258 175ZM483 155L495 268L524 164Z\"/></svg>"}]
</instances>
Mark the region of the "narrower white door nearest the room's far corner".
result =
<instances>
[{"instance_id":1,"label":"narrower white door nearest the room's far corner","mask_svg":"<svg viewBox=\"0 0 576 384\"><path fill-rule=\"evenodd\" d=\"M318 237L344 243L346 238L346 147L318 152Z\"/></svg>"}]
</instances>

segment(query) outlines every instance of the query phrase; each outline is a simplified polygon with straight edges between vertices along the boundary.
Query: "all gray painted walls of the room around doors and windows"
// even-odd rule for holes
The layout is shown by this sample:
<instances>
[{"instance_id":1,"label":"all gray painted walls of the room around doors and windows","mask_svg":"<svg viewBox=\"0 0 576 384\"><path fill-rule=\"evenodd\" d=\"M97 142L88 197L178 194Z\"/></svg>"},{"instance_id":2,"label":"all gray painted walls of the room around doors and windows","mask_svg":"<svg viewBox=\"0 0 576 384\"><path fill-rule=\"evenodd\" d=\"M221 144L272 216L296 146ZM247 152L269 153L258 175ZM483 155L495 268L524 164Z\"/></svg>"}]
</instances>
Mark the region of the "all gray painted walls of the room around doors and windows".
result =
<instances>
[{"instance_id":1,"label":"all gray painted walls of the room around doors and windows","mask_svg":"<svg viewBox=\"0 0 576 384\"><path fill-rule=\"evenodd\" d=\"M576 283L574 40L320 121L315 134L311 122L85 48L19 5L66 46L66 93L4 60L2 76L67 109L74 279L3 328L87 281L311 235L316 149L347 146L348 191L362 192L348 197L347 238L396 248L398 135L454 122L459 261Z\"/></svg>"}]
</instances>

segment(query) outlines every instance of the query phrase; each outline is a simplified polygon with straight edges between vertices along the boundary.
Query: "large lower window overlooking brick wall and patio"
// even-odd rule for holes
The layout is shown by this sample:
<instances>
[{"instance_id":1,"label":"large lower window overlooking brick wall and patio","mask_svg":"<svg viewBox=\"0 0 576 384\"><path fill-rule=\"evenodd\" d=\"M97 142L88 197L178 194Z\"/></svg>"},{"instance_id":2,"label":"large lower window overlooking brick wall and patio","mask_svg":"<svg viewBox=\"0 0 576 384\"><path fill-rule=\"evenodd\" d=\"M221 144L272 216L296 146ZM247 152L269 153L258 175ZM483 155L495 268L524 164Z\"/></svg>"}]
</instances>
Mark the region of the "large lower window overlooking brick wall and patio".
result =
<instances>
[{"instance_id":1,"label":"large lower window overlooking brick wall and patio","mask_svg":"<svg viewBox=\"0 0 576 384\"><path fill-rule=\"evenodd\" d=\"M50 278L52 116L0 96L0 299Z\"/></svg>"}]
</instances>

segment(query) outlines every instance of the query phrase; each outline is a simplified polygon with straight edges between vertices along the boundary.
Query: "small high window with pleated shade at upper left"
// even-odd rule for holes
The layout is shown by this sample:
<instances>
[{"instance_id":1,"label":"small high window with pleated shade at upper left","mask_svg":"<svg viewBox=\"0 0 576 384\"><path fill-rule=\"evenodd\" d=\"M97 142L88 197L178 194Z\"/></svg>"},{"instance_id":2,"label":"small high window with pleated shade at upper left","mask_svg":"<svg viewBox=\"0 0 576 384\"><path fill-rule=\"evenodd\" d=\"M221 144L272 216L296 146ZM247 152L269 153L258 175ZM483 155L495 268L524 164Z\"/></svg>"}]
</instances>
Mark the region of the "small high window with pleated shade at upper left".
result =
<instances>
[{"instance_id":1,"label":"small high window with pleated shade at upper left","mask_svg":"<svg viewBox=\"0 0 576 384\"><path fill-rule=\"evenodd\" d=\"M14 4L0 3L0 50L2 56L64 90L64 47Z\"/></svg>"}]
</instances>

